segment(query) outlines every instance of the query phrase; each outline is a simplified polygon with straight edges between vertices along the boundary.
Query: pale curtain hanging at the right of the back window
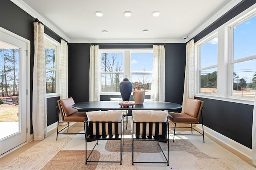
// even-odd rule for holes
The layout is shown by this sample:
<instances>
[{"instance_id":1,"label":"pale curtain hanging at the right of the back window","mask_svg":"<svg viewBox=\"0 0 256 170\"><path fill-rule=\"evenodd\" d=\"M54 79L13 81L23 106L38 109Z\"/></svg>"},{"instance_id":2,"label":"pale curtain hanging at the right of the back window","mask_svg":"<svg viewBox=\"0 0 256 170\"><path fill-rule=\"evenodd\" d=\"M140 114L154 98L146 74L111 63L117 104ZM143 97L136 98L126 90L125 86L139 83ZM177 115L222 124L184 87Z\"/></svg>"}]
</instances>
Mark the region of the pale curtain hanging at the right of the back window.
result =
<instances>
[{"instance_id":1,"label":"pale curtain hanging at the right of the back window","mask_svg":"<svg viewBox=\"0 0 256 170\"><path fill-rule=\"evenodd\" d=\"M151 99L164 102L165 96L165 51L164 45L153 45L153 73Z\"/></svg>"}]
</instances>

